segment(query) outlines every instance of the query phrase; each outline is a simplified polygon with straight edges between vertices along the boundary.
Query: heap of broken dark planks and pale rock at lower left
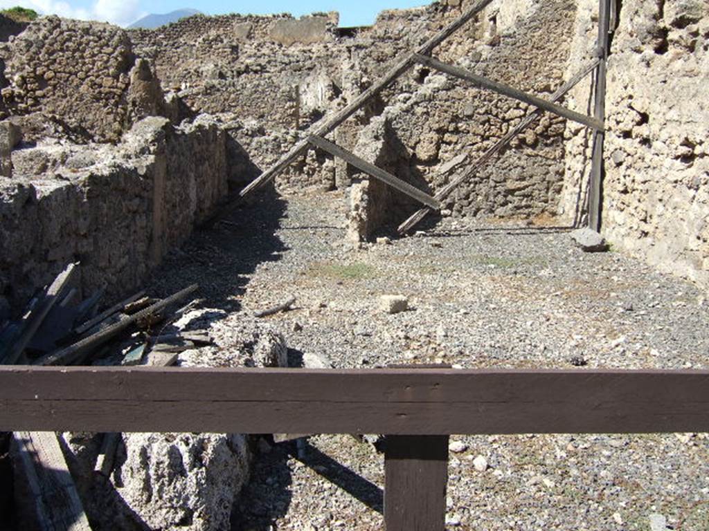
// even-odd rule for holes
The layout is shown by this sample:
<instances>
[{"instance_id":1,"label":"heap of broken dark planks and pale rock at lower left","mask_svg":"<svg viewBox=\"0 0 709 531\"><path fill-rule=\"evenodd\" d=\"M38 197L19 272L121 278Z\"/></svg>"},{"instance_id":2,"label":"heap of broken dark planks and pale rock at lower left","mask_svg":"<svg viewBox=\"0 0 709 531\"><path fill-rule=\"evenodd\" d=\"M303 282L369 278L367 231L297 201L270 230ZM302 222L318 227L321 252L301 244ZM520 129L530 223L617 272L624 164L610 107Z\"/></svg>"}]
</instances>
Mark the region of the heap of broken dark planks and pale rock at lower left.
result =
<instances>
[{"instance_id":1,"label":"heap of broken dark planks and pale rock at lower left","mask_svg":"<svg viewBox=\"0 0 709 531\"><path fill-rule=\"evenodd\" d=\"M196 285L165 299L139 292L99 312L104 291L80 300L79 268L68 265L40 290L21 320L0 323L0 362L287 365L282 336L254 321L242 322L228 340L216 341L209 310L197 309L197 300L188 302ZM15 433L14 440L17 518L43 529L67 522L86 530L228 528L252 456L250 440L239 434L64 433L57 438L25 432Z\"/></svg>"}]
</instances>

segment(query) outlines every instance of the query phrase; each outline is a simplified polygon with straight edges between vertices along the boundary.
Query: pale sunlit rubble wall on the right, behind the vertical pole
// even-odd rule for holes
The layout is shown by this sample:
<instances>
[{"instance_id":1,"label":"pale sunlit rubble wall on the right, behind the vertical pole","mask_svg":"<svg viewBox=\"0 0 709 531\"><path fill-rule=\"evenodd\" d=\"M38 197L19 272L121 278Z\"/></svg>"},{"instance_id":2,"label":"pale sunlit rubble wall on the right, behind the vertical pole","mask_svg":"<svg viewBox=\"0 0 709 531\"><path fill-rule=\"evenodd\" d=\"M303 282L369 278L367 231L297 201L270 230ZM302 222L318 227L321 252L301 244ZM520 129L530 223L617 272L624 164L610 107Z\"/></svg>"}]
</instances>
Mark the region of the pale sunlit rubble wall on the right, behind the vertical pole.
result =
<instances>
[{"instance_id":1,"label":"pale sunlit rubble wall on the right, behind the vertical pole","mask_svg":"<svg viewBox=\"0 0 709 531\"><path fill-rule=\"evenodd\" d=\"M598 2L579 1L569 64L590 57ZM603 234L661 270L709 285L709 4L623 0L608 59ZM590 82L573 95L588 110ZM562 207L579 219L590 142L566 131Z\"/></svg>"}]
</instances>

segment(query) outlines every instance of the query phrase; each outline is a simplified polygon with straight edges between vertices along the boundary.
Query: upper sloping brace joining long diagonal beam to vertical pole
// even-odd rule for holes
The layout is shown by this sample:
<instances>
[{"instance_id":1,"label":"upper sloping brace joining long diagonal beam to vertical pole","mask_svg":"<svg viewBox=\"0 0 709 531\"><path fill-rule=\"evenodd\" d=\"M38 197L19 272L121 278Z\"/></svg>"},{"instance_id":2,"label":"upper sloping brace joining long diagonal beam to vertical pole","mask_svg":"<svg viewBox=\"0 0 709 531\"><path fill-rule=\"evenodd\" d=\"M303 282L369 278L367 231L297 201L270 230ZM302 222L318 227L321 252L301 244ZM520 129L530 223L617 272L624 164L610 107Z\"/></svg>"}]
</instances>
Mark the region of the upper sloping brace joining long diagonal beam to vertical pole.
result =
<instances>
[{"instance_id":1,"label":"upper sloping brace joining long diagonal beam to vertical pole","mask_svg":"<svg viewBox=\"0 0 709 531\"><path fill-rule=\"evenodd\" d=\"M533 96L532 94L520 91L518 89L513 89L513 87L508 86L506 84L498 83L497 81L491 81L490 79L487 79L483 76L479 76L478 74L474 74L469 70L460 67L454 67L452 64L440 62L438 59L434 59L433 57L428 57L426 55L416 55L416 60L420 64L424 64L427 67L436 69L440 72L445 72L446 74L450 74L452 76L459 77L460 79L465 79L466 81L470 81L472 84L476 86L481 86L484 89L489 89L498 94L502 94L503 96L508 96L509 98L514 98L515 100L523 101L524 103L527 103L529 105L534 105L535 107L549 111L549 113L554 113L556 115L563 116L568 120L574 120L574 122L579 122L583 125L587 125L588 127L593 127L593 129L595 130L603 130L603 120L598 120L598 118L591 118L590 116L586 116L581 113L576 113L575 110L567 109L562 105L557 105L556 103L552 103L543 98L538 98L537 96Z\"/></svg>"}]
</instances>

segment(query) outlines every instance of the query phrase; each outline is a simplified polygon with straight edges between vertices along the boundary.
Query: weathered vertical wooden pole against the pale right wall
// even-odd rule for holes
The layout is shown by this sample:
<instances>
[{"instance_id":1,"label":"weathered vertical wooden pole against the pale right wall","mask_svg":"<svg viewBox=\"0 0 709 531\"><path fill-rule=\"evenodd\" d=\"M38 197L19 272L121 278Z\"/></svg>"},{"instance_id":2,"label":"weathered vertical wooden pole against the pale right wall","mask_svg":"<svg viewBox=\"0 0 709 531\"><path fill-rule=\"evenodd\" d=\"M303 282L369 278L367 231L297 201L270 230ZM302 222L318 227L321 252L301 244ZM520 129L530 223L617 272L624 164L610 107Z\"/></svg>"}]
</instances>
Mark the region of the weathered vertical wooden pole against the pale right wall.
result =
<instances>
[{"instance_id":1,"label":"weathered vertical wooden pole against the pale right wall","mask_svg":"<svg viewBox=\"0 0 709 531\"><path fill-rule=\"evenodd\" d=\"M608 36L610 33L610 1L600 0L598 6L598 70L596 71L596 106L593 118L605 121L605 76L608 59ZM591 183L588 191L588 227L601 230L601 185L603 183L603 130L593 132L593 156L591 158Z\"/></svg>"}]
</instances>

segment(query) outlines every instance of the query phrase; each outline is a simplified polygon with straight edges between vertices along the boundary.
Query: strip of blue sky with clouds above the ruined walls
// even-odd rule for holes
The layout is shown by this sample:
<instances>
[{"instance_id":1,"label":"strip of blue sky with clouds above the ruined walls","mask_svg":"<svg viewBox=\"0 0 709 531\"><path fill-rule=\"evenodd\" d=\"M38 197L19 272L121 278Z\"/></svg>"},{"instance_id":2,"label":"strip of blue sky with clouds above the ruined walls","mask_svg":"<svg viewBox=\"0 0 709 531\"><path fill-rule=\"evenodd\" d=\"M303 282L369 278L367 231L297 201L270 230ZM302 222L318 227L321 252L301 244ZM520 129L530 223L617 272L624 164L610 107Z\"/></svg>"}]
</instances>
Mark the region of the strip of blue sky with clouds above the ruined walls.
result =
<instances>
[{"instance_id":1,"label":"strip of blue sky with clouds above the ruined walls","mask_svg":"<svg viewBox=\"0 0 709 531\"><path fill-rule=\"evenodd\" d=\"M147 13L167 13L181 8L199 9L208 15L220 13L293 13L301 16L313 11L339 11L340 25L367 25L382 9L407 8L428 4L426 0L0 0L0 8L23 6L41 13L69 18L108 21L128 25Z\"/></svg>"}]
</instances>

